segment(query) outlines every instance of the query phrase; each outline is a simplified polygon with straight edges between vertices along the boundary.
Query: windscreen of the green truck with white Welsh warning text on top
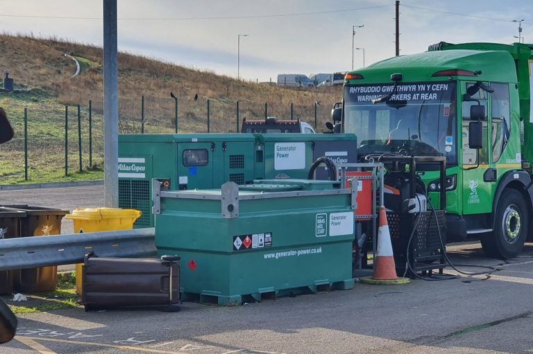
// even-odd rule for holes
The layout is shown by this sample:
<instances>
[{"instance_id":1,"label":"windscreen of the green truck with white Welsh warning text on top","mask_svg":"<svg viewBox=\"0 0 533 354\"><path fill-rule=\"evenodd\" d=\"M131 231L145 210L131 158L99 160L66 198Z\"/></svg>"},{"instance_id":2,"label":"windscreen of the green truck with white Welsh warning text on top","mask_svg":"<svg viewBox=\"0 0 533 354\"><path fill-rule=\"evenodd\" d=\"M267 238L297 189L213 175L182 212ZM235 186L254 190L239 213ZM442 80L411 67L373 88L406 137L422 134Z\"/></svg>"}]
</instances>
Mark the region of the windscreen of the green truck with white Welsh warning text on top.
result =
<instances>
[{"instance_id":1,"label":"windscreen of the green truck with white Welsh warning text on top","mask_svg":"<svg viewBox=\"0 0 533 354\"><path fill-rule=\"evenodd\" d=\"M456 164L456 98L455 82L346 86L344 132L357 135L359 155L444 154Z\"/></svg>"}]
</instances>

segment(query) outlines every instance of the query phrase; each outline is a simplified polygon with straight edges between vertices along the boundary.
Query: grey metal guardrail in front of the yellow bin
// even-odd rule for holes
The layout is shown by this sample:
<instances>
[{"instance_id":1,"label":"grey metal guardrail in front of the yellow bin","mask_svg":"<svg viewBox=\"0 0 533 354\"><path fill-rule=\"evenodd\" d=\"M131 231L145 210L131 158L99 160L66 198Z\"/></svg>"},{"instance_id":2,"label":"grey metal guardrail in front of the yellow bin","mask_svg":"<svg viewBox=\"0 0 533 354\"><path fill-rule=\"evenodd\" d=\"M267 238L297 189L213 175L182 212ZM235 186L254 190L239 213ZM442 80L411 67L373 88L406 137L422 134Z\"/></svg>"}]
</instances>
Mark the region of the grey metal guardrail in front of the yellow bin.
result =
<instances>
[{"instance_id":1,"label":"grey metal guardrail in front of the yellow bin","mask_svg":"<svg viewBox=\"0 0 533 354\"><path fill-rule=\"evenodd\" d=\"M0 270L83 263L90 251L106 257L153 257L155 229L6 238L0 240Z\"/></svg>"}]
</instances>

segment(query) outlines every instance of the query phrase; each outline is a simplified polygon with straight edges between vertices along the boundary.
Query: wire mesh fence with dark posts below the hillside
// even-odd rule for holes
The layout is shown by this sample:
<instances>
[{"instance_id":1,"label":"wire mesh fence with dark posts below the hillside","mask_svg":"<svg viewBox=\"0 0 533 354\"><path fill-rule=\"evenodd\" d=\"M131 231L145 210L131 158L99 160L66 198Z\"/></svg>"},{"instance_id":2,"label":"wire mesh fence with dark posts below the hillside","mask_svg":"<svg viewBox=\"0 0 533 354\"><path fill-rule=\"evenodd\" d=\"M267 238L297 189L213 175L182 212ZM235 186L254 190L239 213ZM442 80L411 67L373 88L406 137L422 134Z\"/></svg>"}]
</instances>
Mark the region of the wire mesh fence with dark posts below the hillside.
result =
<instances>
[{"instance_id":1,"label":"wire mesh fence with dark posts below the hillside","mask_svg":"<svg viewBox=\"0 0 533 354\"><path fill-rule=\"evenodd\" d=\"M4 107L15 130L12 141L0 145L1 184L58 181L77 172L103 168L103 112L87 105ZM239 132L242 121L301 120L325 130L330 107L269 105L208 98L121 98L119 134Z\"/></svg>"}]
</instances>

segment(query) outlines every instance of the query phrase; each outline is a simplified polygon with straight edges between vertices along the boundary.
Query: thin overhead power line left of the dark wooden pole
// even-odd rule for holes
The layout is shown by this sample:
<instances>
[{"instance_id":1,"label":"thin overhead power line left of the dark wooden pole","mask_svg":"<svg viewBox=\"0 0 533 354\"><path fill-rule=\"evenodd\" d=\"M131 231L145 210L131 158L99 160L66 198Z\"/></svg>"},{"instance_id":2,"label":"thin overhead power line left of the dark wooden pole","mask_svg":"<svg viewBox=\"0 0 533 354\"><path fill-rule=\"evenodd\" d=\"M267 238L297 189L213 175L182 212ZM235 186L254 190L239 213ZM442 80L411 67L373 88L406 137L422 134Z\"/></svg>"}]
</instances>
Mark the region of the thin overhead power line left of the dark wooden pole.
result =
<instances>
[{"instance_id":1,"label":"thin overhead power line left of the dark wooden pole","mask_svg":"<svg viewBox=\"0 0 533 354\"><path fill-rule=\"evenodd\" d=\"M220 17L119 17L119 21L190 21L190 20L209 20L209 19L257 19L267 17L292 17L292 16L310 16L323 15L337 12L353 12L361 10L371 10L374 8L386 8L393 5L369 6L366 8L346 8L343 10L328 10L315 12L291 12L285 14L272 15L244 15L244 16L220 16ZM102 19L101 17L61 17L61 16L30 16L30 15L2 15L0 17L19 17L30 19Z\"/></svg>"}]
</instances>

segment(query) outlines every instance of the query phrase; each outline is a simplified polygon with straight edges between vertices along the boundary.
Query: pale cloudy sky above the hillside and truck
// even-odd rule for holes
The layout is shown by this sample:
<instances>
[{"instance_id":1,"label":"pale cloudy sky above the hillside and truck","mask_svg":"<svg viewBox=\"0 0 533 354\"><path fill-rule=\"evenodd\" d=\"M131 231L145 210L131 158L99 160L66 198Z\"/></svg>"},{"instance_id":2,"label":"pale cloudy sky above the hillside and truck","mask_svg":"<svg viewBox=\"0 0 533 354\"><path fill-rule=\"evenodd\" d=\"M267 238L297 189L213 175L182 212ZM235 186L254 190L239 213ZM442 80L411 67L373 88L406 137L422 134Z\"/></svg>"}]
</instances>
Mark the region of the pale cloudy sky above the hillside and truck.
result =
<instances>
[{"instance_id":1,"label":"pale cloudy sky above the hillside and truck","mask_svg":"<svg viewBox=\"0 0 533 354\"><path fill-rule=\"evenodd\" d=\"M330 73L394 56L394 0L118 0L119 51L246 80ZM103 44L102 0L0 0L0 28ZM402 0L400 54L429 44L533 42L531 0ZM355 36L352 26L356 28ZM120 64L120 63L119 63Z\"/></svg>"}]
</instances>

